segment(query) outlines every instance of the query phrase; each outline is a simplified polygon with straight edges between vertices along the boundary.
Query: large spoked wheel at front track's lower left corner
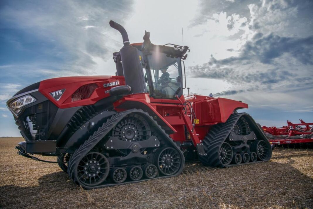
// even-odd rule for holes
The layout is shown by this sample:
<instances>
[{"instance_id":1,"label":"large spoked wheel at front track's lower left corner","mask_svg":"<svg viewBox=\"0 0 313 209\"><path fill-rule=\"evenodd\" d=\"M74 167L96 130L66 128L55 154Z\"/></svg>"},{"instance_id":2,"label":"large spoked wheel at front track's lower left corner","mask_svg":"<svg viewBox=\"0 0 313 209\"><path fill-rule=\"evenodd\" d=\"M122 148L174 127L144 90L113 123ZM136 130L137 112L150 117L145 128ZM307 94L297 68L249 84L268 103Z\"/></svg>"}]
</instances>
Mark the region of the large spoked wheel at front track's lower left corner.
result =
<instances>
[{"instance_id":1,"label":"large spoked wheel at front track's lower left corner","mask_svg":"<svg viewBox=\"0 0 313 209\"><path fill-rule=\"evenodd\" d=\"M109 161L99 152L90 152L83 157L77 167L80 184L98 186L109 175Z\"/></svg>"}]
</instances>

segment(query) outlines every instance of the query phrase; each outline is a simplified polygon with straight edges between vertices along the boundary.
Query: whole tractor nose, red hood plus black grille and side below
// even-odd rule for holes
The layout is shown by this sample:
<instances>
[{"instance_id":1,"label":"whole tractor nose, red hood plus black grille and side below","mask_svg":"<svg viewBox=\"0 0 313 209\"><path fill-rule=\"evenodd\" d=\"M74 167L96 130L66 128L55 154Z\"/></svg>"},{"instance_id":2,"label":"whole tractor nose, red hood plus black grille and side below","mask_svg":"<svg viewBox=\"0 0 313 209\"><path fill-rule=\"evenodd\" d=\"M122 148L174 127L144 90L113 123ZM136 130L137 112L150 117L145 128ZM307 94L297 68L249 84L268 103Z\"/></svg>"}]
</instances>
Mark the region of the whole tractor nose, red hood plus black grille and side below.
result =
<instances>
[{"instance_id":1,"label":"whole tractor nose, red hood plus black grille and side below","mask_svg":"<svg viewBox=\"0 0 313 209\"><path fill-rule=\"evenodd\" d=\"M75 76L32 84L7 101L25 140L57 140L107 110L122 76ZM64 128L65 127L65 128Z\"/></svg>"}]
</instances>

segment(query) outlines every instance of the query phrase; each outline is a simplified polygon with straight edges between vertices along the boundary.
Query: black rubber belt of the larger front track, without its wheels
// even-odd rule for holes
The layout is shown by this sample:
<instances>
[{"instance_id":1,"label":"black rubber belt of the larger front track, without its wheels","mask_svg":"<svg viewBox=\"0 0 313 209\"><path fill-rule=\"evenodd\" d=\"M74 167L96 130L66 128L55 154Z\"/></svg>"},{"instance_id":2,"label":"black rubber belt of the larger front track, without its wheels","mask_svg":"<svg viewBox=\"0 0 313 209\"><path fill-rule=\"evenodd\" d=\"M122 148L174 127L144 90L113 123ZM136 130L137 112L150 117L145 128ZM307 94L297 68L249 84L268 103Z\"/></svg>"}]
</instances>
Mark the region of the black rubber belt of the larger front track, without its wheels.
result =
<instances>
[{"instance_id":1,"label":"black rubber belt of the larger front track, without its wheels","mask_svg":"<svg viewBox=\"0 0 313 209\"><path fill-rule=\"evenodd\" d=\"M70 176L70 178L78 185L80 185L79 180L77 179L76 176L76 169L77 166L79 164L79 162L83 159L83 157L90 151L92 150L92 148L98 144L98 142L103 139L103 137L105 135L107 135L109 133L109 131L111 129L113 129L113 127L115 125L117 125L117 123L122 120L126 115L130 114L130 113L139 113L141 115L146 116L146 119L150 119L150 125L152 126L153 123L155 125L155 128L157 128L159 130L159 132L161 134L163 134L165 139L168 139L168 142L170 142L173 146L173 148L176 148L176 150L178 151L178 153L180 153L181 158L182 158L182 164L180 169L177 171L176 174L172 175L172 176L177 176L182 172L182 169L184 167L184 156L182 154L182 151L180 150L179 146L172 140L172 138L170 138L170 136L165 132L165 130L162 129L162 127L160 125L157 124L157 122L146 112L144 112L143 110L138 110L138 109L131 109L131 110L126 110L120 113L117 113L115 115L113 115L110 119L108 119L101 127L99 127L99 129L97 131L94 132L93 135L91 135L89 137L88 140L86 140L84 142L84 144L80 145L80 147L75 150L74 154L70 157L69 159L69 163L68 163L68 174ZM152 123L152 124L151 124ZM161 176L158 178L164 178L164 177L171 177L171 176ZM148 179L147 179L148 180ZM144 180L139 180L139 181L145 181ZM132 181L132 182L128 182L128 183L135 183L135 182L139 182L139 181ZM120 184L126 184L125 182L120 183ZM105 187L105 186L114 186L117 184L103 184L103 185L99 185L99 186L85 186L85 185L81 185L83 186L85 189L95 189L95 188L101 188L101 187Z\"/></svg>"}]
</instances>

